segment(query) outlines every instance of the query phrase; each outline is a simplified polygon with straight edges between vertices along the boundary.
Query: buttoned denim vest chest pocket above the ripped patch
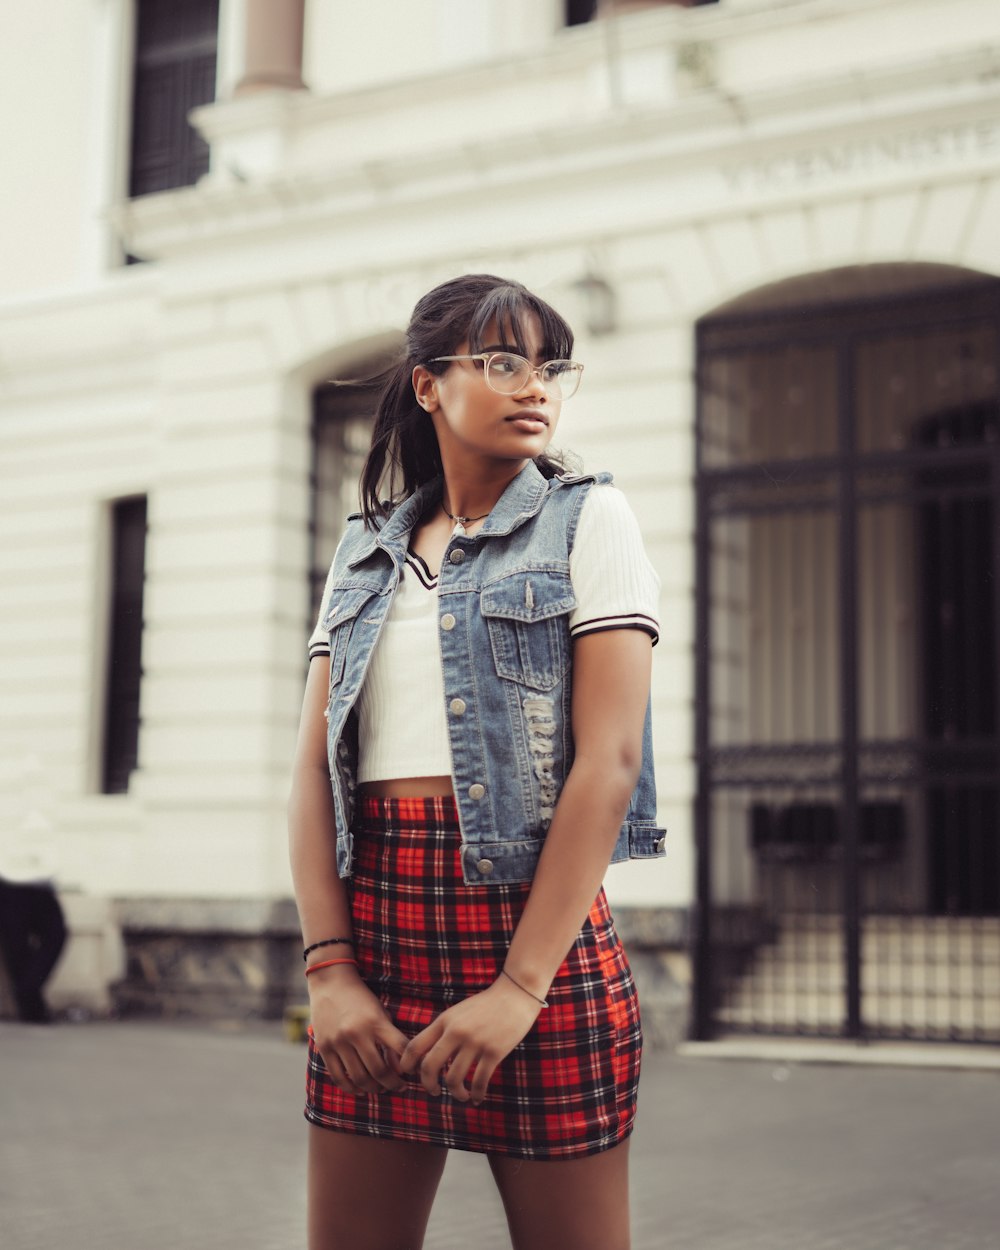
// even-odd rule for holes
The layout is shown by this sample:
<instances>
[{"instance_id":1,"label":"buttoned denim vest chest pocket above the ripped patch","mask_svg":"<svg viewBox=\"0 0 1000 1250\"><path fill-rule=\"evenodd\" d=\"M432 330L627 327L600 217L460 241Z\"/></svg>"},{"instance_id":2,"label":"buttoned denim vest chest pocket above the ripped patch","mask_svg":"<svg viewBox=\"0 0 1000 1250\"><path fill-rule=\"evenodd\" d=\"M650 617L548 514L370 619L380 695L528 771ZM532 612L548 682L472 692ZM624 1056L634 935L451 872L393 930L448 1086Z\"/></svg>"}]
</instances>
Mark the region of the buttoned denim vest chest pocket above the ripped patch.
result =
<instances>
[{"instance_id":1,"label":"buttoned denim vest chest pocket above the ripped patch","mask_svg":"<svg viewBox=\"0 0 1000 1250\"><path fill-rule=\"evenodd\" d=\"M509 574L485 585L480 611L498 676L551 690L570 665L569 614L576 606L569 571Z\"/></svg>"}]
</instances>

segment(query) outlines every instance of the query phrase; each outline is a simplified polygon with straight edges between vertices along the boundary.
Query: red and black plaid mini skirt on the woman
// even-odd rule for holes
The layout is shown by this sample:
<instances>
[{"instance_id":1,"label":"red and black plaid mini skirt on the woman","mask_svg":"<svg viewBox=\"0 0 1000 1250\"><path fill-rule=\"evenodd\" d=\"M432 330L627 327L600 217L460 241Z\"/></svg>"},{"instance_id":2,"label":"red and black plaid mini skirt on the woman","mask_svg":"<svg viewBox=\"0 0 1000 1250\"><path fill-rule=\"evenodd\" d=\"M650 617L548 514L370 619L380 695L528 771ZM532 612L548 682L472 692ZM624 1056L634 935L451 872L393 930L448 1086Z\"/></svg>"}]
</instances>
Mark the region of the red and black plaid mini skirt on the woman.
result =
<instances>
[{"instance_id":1,"label":"red and black plaid mini skirt on the woman","mask_svg":"<svg viewBox=\"0 0 1000 1250\"><path fill-rule=\"evenodd\" d=\"M360 971L408 1036L486 989L504 962L528 884L468 886L452 798L364 799L345 882ZM479 1106L398 1091L345 1094L309 1034L306 1119L326 1129L522 1159L570 1159L632 1130L639 1001L601 890L525 1039Z\"/></svg>"}]
</instances>

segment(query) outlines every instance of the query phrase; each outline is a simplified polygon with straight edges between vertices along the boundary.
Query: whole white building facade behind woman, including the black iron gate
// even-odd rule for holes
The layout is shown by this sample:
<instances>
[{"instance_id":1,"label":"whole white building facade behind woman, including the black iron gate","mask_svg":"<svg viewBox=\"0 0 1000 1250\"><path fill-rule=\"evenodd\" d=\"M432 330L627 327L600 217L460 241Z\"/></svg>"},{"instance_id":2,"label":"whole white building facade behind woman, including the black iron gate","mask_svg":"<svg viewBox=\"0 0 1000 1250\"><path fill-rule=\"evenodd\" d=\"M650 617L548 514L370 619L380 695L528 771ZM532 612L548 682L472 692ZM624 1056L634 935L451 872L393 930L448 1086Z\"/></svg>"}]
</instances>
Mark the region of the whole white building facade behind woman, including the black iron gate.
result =
<instances>
[{"instance_id":1,"label":"whole white building facade behind woman, including the black iron gate","mask_svg":"<svg viewBox=\"0 0 1000 1250\"><path fill-rule=\"evenodd\" d=\"M135 5L19 8L0 54L31 101L0 139L19 170L0 209L0 819L44 825L66 891L109 900L124 1006L284 1005L310 588L365 424L324 384L391 350L438 281L510 275L578 330L560 438L615 474L662 582L668 856L608 879L654 1031L688 1030L694 985L702 1036L998 1040L996 706L939 724L925 705L995 694L1000 604L914 570L931 496L979 535L955 540L980 552L966 580L1000 545L1000 8L590 8L221 0L212 48L190 44L214 56L191 114L208 168L131 196ZM944 468L914 450L945 445ZM935 594L971 632L931 638ZM130 645L135 754L109 765ZM986 659L949 676L952 646ZM942 742L981 759L942 762ZM955 811L972 832L948 834ZM928 969L959 951L971 989L949 1006Z\"/></svg>"}]
</instances>

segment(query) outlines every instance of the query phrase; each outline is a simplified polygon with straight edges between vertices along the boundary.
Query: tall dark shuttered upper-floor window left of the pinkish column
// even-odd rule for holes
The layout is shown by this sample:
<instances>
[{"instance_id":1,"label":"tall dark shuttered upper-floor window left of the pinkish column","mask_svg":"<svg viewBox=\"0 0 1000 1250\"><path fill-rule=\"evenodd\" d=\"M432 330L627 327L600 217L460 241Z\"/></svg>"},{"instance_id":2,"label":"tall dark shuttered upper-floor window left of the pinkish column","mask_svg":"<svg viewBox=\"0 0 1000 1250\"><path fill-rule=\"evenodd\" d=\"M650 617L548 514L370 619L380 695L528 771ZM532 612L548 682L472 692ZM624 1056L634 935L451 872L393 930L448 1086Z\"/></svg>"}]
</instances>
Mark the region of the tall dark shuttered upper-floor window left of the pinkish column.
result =
<instances>
[{"instance_id":1,"label":"tall dark shuttered upper-floor window left of the pinkish column","mask_svg":"<svg viewBox=\"0 0 1000 1250\"><path fill-rule=\"evenodd\" d=\"M209 148L188 114L215 99L219 0L138 0L129 195L190 186Z\"/></svg>"}]
</instances>

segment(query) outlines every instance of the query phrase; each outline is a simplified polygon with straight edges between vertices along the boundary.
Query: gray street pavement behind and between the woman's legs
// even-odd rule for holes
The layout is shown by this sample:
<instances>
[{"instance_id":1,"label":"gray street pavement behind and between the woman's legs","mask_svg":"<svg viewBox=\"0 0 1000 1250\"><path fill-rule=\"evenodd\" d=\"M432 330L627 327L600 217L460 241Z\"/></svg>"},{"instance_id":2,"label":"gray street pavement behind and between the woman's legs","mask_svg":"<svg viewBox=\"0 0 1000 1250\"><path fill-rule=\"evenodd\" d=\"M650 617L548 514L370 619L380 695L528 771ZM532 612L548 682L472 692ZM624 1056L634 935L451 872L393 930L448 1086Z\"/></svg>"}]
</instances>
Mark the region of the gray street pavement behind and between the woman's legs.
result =
<instances>
[{"instance_id":1,"label":"gray street pavement behind and between the woman's legs","mask_svg":"<svg viewBox=\"0 0 1000 1250\"><path fill-rule=\"evenodd\" d=\"M302 1250L304 1059L278 1026L0 1024L0 1248ZM998 1250L1000 1074L648 1054L632 1208L635 1250ZM508 1245L452 1152L426 1250Z\"/></svg>"}]
</instances>

